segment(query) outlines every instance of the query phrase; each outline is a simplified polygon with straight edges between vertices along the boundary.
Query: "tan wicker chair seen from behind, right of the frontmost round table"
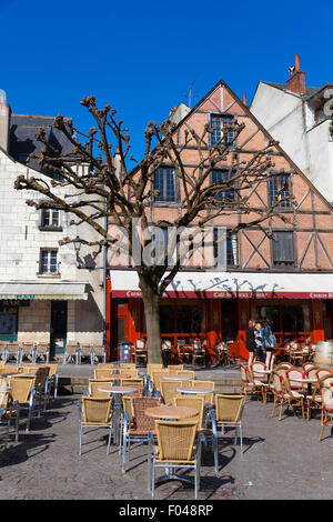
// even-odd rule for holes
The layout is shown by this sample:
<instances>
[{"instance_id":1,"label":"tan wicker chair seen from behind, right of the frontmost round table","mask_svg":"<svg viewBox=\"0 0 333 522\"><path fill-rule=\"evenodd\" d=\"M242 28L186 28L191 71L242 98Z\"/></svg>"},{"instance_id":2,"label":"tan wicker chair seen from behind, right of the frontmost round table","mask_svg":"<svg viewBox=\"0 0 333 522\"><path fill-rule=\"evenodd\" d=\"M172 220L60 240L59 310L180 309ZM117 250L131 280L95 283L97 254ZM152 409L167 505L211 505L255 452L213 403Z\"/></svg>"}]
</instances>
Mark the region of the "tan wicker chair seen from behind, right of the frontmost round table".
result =
<instances>
[{"instance_id":1,"label":"tan wicker chair seen from behind, right of the frontmost round table","mask_svg":"<svg viewBox=\"0 0 333 522\"><path fill-rule=\"evenodd\" d=\"M222 428L222 434L224 434L224 428L239 429L241 453L243 452L243 434L242 434L242 414L244 409L245 395L222 395L216 394L215 396L215 411L211 411L212 428L213 428L213 445L214 445L214 466L215 473L219 472L219 439L218 428ZM236 442L236 436L235 436Z\"/></svg>"}]
</instances>

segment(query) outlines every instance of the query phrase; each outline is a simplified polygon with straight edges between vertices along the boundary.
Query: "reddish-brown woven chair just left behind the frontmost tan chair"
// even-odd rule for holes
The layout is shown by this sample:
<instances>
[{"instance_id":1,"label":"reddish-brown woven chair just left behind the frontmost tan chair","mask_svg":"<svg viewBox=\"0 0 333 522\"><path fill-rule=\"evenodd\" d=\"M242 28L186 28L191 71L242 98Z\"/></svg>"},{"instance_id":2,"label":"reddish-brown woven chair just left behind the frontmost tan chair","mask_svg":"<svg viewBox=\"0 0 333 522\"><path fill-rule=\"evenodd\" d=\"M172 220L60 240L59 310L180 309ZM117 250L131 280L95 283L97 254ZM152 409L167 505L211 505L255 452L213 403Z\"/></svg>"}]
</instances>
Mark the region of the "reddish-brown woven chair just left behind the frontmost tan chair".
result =
<instances>
[{"instance_id":1,"label":"reddish-brown woven chair just left behind the frontmost tan chair","mask_svg":"<svg viewBox=\"0 0 333 522\"><path fill-rule=\"evenodd\" d=\"M148 408L159 406L161 401L157 396L131 398L132 425L129 413L124 411L122 432L122 473L127 471L127 460L130 460L131 442L148 442L149 434L154 434L154 419L145 414Z\"/></svg>"}]
</instances>

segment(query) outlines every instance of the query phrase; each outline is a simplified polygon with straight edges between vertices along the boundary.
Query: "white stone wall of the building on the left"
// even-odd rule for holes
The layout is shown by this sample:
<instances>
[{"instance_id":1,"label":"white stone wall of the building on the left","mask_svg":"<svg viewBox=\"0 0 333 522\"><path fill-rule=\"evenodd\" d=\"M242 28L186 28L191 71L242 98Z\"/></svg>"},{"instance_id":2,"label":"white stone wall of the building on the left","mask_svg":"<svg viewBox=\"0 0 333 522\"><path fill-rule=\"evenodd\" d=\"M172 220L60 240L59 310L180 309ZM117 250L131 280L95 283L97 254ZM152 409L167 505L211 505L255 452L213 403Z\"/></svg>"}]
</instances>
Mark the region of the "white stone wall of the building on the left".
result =
<instances>
[{"instance_id":1,"label":"white stone wall of the building on the left","mask_svg":"<svg viewBox=\"0 0 333 522\"><path fill-rule=\"evenodd\" d=\"M87 281L89 282L90 317L84 320L87 302L82 300L68 303L68 340L101 343L103 339L103 257L99 255L94 270L78 269L73 244L59 245L64 237L80 235L88 241L97 240L97 233L87 224L69 225L72 214L61 213L62 231L40 231L40 214L33 207L28 207L28 199L38 200L40 194L16 190L18 175L27 175L28 168L16 162L0 149L0 281ZM48 177L29 169L30 177L50 181ZM60 193L71 193L69 188L57 189ZM44 198L43 198L44 199ZM98 239L101 239L100 237ZM40 275L39 260L41 248L58 249L60 277ZM91 249L82 247L80 257L91 253ZM78 321L75 318L79 317ZM82 324L84 328L82 328ZM79 328L79 329L78 329ZM50 301L31 302L30 307L19 311L19 341L31 338L49 342Z\"/></svg>"}]
</instances>

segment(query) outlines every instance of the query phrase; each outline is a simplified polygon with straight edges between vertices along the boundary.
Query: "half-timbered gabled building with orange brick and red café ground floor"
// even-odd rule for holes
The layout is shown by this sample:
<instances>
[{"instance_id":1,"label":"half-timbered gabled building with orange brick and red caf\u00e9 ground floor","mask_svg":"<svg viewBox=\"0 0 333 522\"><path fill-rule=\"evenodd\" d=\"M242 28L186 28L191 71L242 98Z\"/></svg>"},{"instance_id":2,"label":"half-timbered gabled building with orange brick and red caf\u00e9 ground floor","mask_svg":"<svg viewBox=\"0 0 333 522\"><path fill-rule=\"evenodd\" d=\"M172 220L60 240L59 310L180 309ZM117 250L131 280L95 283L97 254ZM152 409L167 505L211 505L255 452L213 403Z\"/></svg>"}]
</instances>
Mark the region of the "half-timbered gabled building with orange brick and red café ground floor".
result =
<instances>
[{"instance_id":1,"label":"half-timbered gabled building with orange brick and red caf\u00e9 ground floor","mask_svg":"<svg viewBox=\"0 0 333 522\"><path fill-rule=\"evenodd\" d=\"M173 118L179 144L183 143L188 129L201 134L209 124L208 149L219 140L225 126L231 129L234 119L245 123L232 145L233 153L214 167L210 183L223 179L231 157L236 171L244 159L253 157L272 139L223 81L192 110L184 110L182 106ZM191 175L198 164L198 153L195 148L189 147L184 154ZM250 318L271 319L279 345L294 337L311 335L313 342L333 337L332 208L278 143L273 147L273 157L269 181L253 182L249 189L251 213L233 208L209 225L233 229L251 221L258 209L270 207L281 187L293 200L283 199L266 222L228 238L225 270L193 262L182 267L161 303L161 335L173 345L193 337L205 338L213 357L218 341L232 341L234 353L248 358L245 331ZM184 194L168 162L155 173L154 184L159 197L149 209L151 222L164 219L172 223L182 213ZM223 201L238 194L236 191L221 192L219 197ZM115 359L119 343L129 341L134 345L139 338L144 338L145 325L135 270L130 265L111 264L109 273L108 337L110 357Z\"/></svg>"}]
</instances>

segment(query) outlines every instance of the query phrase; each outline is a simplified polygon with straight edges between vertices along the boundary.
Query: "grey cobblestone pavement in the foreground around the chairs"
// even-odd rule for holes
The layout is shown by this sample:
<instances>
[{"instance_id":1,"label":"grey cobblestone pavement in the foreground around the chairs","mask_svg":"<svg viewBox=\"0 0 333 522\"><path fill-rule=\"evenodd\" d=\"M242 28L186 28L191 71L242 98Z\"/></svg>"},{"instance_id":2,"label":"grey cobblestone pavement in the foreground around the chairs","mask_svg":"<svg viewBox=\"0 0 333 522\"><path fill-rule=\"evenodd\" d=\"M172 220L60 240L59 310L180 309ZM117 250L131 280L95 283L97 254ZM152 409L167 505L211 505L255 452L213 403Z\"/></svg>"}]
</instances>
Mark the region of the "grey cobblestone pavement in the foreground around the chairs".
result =
<instances>
[{"instance_id":1,"label":"grey cobblestone pavement in the foreground around the chairs","mask_svg":"<svg viewBox=\"0 0 333 522\"><path fill-rule=\"evenodd\" d=\"M105 431L84 435L79 456L79 395L63 395L33 419L31 431L0 452L0 499L8 500L149 500L147 446L132 446L122 475L118 450L107 455ZM244 453L229 433L219 444L215 476L211 449L203 453L200 500L332 499L333 448L330 429L317 441L320 418L309 422L271 418L272 404L248 400L243 415ZM22 419L24 429L24 420ZM1 433L3 433L1 428ZM12 435L13 439L13 435ZM192 500L179 481L157 488L157 500Z\"/></svg>"}]
</instances>

